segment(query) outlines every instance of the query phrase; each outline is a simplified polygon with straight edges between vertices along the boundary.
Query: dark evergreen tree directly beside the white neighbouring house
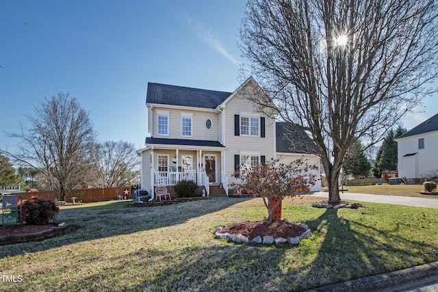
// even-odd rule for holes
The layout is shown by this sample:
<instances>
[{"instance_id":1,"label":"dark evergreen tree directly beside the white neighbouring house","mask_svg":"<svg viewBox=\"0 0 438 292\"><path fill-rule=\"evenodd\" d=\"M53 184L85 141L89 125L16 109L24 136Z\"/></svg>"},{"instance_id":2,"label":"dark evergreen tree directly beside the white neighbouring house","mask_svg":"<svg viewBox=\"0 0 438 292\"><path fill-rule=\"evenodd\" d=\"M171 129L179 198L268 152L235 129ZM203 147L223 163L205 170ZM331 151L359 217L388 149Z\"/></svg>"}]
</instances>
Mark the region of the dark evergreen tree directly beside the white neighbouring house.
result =
<instances>
[{"instance_id":1,"label":"dark evergreen tree directly beside the white neighbouring house","mask_svg":"<svg viewBox=\"0 0 438 292\"><path fill-rule=\"evenodd\" d=\"M406 133L406 129L398 127L396 131L389 130L387 137L383 140L381 148L377 152L376 163L374 164L374 176L380 178L384 170L397 170L397 142L394 140Z\"/></svg>"}]
</instances>

